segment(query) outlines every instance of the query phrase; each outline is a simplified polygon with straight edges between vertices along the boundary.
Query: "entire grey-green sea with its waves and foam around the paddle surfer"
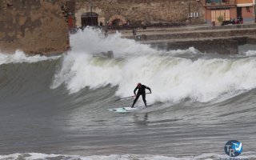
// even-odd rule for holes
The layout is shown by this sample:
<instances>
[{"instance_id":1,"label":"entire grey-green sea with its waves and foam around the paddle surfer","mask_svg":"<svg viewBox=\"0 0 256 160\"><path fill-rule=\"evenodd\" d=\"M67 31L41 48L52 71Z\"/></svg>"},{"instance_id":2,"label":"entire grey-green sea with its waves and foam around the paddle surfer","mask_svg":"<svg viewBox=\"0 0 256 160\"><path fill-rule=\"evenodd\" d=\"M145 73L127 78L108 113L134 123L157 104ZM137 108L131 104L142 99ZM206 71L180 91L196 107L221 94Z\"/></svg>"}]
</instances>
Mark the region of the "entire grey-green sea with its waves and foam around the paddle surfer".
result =
<instances>
[{"instance_id":1,"label":"entire grey-green sea with its waves and foam around the paddle surfer","mask_svg":"<svg viewBox=\"0 0 256 160\"><path fill-rule=\"evenodd\" d=\"M256 50L155 50L86 29L59 57L0 54L0 159L219 159L242 142L256 158ZM247 49L247 50L246 50ZM114 58L94 54L112 50ZM135 85L150 107L129 114ZM137 106L143 106L139 99Z\"/></svg>"}]
</instances>

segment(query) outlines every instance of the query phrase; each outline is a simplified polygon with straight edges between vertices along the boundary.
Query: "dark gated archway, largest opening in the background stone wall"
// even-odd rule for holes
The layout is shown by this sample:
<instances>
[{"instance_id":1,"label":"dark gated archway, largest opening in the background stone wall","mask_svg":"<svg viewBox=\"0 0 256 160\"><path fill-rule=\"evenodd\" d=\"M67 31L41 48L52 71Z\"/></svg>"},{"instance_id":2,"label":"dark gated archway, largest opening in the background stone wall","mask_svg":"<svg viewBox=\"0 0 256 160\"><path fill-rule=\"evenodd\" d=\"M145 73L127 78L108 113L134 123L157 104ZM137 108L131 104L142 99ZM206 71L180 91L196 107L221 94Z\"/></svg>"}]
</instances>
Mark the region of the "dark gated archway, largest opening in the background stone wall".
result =
<instances>
[{"instance_id":1,"label":"dark gated archway, largest opening in the background stone wall","mask_svg":"<svg viewBox=\"0 0 256 160\"><path fill-rule=\"evenodd\" d=\"M87 12L81 15L82 26L98 26L98 14Z\"/></svg>"}]
</instances>

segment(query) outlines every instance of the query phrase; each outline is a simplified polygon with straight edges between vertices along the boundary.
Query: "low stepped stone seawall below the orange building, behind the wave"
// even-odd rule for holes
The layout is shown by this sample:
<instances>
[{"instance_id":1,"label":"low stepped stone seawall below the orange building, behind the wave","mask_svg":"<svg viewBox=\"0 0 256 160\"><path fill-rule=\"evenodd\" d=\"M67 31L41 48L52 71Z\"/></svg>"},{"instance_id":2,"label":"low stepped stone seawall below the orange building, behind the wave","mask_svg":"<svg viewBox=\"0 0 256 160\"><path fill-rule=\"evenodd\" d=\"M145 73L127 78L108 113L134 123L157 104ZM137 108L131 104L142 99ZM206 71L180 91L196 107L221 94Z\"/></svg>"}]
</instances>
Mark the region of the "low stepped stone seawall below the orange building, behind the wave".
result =
<instances>
[{"instance_id":1,"label":"low stepped stone seawall below the orange building, behind the wave","mask_svg":"<svg viewBox=\"0 0 256 160\"><path fill-rule=\"evenodd\" d=\"M122 33L126 38L166 50L194 46L206 53L238 54L238 46L256 44L255 24L138 30L136 36L127 31Z\"/></svg>"}]
</instances>

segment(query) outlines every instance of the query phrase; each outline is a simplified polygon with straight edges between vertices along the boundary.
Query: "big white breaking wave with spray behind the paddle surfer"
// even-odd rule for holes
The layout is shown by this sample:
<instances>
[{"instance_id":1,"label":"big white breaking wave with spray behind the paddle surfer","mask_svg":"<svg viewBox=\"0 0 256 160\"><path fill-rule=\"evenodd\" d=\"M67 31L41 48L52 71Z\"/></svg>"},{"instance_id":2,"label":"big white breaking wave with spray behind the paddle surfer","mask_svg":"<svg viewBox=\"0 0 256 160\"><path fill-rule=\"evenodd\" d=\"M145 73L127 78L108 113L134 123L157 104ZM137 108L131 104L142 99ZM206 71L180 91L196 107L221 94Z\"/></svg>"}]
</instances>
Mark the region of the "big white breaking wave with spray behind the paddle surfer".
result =
<instances>
[{"instance_id":1,"label":"big white breaking wave with spray behind the paddle surfer","mask_svg":"<svg viewBox=\"0 0 256 160\"><path fill-rule=\"evenodd\" d=\"M117 96L133 93L142 82L153 90L149 102L181 102L190 98L210 102L231 98L256 87L255 58L182 58L177 54L202 55L193 47L187 50L156 50L122 34L102 38L90 28L71 36L73 49L65 55L52 88L66 84L70 94L85 87L96 89L118 86ZM112 50L114 58L94 57Z\"/></svg>"}]
</instances>

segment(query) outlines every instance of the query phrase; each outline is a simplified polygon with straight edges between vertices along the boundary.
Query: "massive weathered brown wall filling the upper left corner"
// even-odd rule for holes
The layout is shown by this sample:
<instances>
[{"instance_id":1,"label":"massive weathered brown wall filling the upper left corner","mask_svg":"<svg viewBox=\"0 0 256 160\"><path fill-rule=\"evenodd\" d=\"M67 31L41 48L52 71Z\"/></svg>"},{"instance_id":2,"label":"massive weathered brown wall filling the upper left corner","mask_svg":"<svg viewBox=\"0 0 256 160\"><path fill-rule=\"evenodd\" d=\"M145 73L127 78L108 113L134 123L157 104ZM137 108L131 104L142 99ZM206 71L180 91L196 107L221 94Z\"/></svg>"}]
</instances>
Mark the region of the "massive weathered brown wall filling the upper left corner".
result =
<instances>
[{"instance_id":1,"label":"massive weathered brown wall filling the upper left corner","mask_svg":"<svg viewBox=\"0 0 256 160\"><path fill-rule=\"evenodd\" d=\"M57 54L69 47L62 0L2 0L0 50Z\"/></svg>"}]
</instances>

